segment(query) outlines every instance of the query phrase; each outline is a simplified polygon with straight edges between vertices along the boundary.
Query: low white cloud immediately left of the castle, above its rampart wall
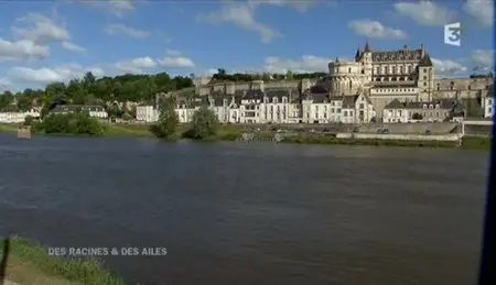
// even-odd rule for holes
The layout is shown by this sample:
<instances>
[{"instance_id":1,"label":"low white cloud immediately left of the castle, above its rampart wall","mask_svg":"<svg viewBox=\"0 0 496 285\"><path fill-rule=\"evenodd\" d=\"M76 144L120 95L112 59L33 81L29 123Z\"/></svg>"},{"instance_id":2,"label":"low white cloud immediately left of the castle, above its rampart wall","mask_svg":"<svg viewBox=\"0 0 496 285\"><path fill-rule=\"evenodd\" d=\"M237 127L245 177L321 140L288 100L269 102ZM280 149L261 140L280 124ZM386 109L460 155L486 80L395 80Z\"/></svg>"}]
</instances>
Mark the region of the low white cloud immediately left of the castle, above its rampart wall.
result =
<instances>
[{"instance_id":1,"label":"low white cloud immediately left of the castle, above its rampart wall","mask_svg":"<svg viewBox=\"0 0 496 285\"><path fill-rule=\"evenodd\" d=\"M300 59L288 59L280 57L267 57L263 69L269 73L284 74L288 70L296 73L327 72L331 58L314 55L303 55Z\"/></svg>"}]
</instances>

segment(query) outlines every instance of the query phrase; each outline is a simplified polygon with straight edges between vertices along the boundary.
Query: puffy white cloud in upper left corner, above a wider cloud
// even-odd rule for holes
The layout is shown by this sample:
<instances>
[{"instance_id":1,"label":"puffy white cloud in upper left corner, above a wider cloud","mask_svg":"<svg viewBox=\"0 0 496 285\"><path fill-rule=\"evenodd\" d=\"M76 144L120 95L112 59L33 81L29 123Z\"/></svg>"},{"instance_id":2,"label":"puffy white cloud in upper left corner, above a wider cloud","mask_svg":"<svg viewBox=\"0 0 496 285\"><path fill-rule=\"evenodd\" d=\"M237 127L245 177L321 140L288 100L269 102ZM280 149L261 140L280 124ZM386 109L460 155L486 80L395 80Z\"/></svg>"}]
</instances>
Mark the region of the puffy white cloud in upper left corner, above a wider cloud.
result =
<instances>
[{"instance_id":1,"label":"puffy white cloud in upper left corner, above a wider cloud","mask_svg":"<svg viewBox=\"0 0 496 285\"><path fill-rule=\"evenodd\" d=\"M24 26L13 26L14 34L22 40L30 40L36 44L46 44L50 42L71 41L68 31L55 23L52 19L37 14L29 13L18 19Z\"/></svg>"}]
</instances>

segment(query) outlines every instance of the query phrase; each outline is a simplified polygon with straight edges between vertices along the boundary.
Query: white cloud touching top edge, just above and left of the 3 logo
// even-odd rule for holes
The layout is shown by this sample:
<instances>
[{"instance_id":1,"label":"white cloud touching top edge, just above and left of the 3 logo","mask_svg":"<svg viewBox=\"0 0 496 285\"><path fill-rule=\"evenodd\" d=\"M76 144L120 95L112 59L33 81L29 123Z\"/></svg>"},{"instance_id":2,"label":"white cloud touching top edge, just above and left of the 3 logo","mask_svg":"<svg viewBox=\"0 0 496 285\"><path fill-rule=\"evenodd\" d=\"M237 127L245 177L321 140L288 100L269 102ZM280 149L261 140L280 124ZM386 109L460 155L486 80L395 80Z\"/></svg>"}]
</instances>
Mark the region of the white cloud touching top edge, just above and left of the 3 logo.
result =
<instances>
[{"instance_id":1,"label":"white cloud touching top edge, just above and left of the 3 logo","mask_svg":"<svg viewBox=\"0 0 496 285\"><path fill-rule=\"evenodd\" d=\"M485 0L482 0L485 1ZM398 14L409 17L422 25L444 25L455 19L455 13L433 1L396 2L393 4Z\"/></svg>"}]
</instances>

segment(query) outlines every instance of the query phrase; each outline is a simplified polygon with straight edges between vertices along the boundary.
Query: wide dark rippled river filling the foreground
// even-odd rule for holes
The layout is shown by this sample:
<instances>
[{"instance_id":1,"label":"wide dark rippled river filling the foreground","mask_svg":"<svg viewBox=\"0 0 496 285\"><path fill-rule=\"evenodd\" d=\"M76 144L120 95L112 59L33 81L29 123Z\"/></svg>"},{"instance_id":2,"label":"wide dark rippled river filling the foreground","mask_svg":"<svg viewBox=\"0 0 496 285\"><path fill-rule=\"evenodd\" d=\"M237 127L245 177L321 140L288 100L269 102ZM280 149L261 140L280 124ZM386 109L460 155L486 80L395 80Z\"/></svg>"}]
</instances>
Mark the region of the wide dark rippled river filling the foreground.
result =
<instances>
[{"instance_id":1,"label":"wide dark rippled river filling the foreground","mask_svg":"<svg viewBox=\"0 0 496 285\"><path fill-rule=\"evenodd\" d=\"M487 153L0 135L0 231L128 284L475 284Z\"/></svg>"}]
</instances>

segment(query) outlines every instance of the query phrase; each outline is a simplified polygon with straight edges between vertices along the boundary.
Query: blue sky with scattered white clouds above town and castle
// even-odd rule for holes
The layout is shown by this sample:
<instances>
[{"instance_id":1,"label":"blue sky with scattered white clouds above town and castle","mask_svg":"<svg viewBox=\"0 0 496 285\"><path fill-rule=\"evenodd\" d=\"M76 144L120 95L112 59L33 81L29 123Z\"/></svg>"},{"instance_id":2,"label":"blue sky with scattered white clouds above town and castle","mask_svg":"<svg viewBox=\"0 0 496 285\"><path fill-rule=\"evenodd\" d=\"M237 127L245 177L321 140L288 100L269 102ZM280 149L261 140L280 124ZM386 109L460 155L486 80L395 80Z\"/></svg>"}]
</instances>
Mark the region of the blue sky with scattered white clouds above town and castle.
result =
<instances>
[{"instance_id":1,"label":"blue sky with scattered white clouds above town and castle","mask_svg":"<svg viewBox=\"0 0 496 285\"><path fill-rule=\"evenodd\" d=\"M494 0L0 1L0 91L95 76L326 72L423 44L438 77L493 68ZM444 24L461 22L461 46Z\"/></svg>"}]
</instances>

